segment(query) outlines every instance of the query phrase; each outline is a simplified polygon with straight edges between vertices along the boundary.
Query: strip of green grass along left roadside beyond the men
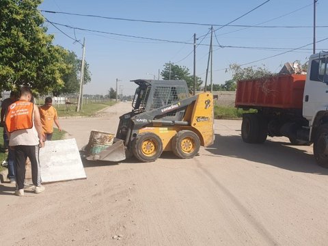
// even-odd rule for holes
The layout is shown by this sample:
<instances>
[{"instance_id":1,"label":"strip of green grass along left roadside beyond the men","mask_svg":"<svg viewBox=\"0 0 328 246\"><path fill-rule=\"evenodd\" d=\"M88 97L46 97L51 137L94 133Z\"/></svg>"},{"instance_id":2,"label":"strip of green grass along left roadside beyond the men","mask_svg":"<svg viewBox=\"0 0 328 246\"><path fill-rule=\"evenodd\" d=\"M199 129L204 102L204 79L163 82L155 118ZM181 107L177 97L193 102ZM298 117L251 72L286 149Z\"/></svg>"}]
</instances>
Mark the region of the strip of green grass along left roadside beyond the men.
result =
<instances>
[{"instance_id":1,"label":"strip of green grass along left roadside beyond the men","mask_svg":"<svg viewBox=\"0 0 328 246\"><path fill-rule=\"evenodd\" d=\"M105 107L114 105L114 101L94 102L83 105L82 110L77 112L77 105L54 105L59 117L92 116Z\"/></svg>"}]
</instances>

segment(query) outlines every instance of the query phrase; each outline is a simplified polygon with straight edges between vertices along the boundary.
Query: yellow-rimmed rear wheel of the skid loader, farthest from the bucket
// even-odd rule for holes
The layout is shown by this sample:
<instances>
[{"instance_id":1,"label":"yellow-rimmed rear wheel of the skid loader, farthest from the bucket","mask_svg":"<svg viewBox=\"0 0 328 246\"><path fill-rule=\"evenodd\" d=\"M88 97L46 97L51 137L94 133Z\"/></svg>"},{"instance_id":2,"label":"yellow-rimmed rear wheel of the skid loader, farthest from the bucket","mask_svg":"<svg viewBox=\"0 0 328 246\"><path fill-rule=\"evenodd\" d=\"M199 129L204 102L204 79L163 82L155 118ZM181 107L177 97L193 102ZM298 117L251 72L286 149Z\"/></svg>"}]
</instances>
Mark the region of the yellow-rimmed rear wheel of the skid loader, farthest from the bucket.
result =
<instances>
[{"instance_id":1,"label":"yellow-rimmed rear wheel of the skid loader, farthest from the bucket","mask_svg":"<svg viewBox=\"0 0 328 246\"><path fill-rule=\"evenodd\" d=\"M171 144L174 154L182 159L193 158L200 151L200 138L193 131L179 131Z\"/></svg>"}]
</instances>

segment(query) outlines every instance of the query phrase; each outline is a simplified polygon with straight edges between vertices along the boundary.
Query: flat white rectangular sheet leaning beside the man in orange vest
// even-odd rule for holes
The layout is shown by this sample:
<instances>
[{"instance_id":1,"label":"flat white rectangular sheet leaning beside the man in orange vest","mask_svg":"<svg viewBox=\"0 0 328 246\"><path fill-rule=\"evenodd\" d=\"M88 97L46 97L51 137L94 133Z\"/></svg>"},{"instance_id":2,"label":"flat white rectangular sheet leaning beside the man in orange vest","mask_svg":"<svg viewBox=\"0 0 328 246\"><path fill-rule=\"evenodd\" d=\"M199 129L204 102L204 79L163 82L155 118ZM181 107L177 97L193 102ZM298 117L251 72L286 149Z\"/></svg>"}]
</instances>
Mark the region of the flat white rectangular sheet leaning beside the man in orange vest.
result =
<instances>
[{"instance_id":1,"label":"flat white rectangular sheet leaning beside the man in orange vest","mask_svg":"<svg viewBox=\"0 0 328 246\"><path fill-rule=\"evenodd\" d=\"M87 178L75 139L46 141L40 148L42 182Z\"/></svg>"}]
</instances>

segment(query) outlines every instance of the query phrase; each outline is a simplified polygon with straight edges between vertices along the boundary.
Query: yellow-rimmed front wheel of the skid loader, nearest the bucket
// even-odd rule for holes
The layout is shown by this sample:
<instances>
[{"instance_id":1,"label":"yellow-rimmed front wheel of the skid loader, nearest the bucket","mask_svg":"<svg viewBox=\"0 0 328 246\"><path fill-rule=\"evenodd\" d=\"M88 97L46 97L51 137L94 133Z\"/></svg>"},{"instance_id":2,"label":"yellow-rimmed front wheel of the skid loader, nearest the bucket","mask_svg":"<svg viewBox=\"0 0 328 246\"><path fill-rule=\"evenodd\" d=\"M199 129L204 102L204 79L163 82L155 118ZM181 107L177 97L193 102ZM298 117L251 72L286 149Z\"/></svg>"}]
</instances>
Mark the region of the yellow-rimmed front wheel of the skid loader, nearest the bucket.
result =
<instances>
[{"instance_id":1,"label":"yellow-rimmed front wheel of the skid loader, nearest the bucket","mask_svg":"<svg viewBox=\"0 0 328 246\"><path fill-rule=\"evenodd\" d=\"M162 141L154 133L141 133L133 139L132 152L139 161L155 161L163 152Z\"/></svg>"}]
</instances>

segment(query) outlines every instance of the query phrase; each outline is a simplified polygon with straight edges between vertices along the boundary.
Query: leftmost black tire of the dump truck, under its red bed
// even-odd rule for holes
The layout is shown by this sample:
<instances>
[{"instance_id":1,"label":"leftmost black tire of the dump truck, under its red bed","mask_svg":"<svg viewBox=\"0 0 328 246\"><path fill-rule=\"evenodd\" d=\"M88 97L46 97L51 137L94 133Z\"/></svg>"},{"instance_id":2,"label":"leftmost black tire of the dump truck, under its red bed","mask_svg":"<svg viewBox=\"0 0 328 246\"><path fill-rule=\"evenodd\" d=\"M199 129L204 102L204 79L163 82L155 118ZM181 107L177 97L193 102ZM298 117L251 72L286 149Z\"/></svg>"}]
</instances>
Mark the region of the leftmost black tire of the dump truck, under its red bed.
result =
<instances>
[{"instance_id":1,"label":"leftmost black tire of the dump truck, under its red bed","mask_svg":"<svg viewBox=\"0 0 328 246\"><path fill-rule=\"evenodd\" d=\"M241 137L245 143L263 143L268 136L268 124L263 115L244 113Z\"/></svg>"}]
</instances>

